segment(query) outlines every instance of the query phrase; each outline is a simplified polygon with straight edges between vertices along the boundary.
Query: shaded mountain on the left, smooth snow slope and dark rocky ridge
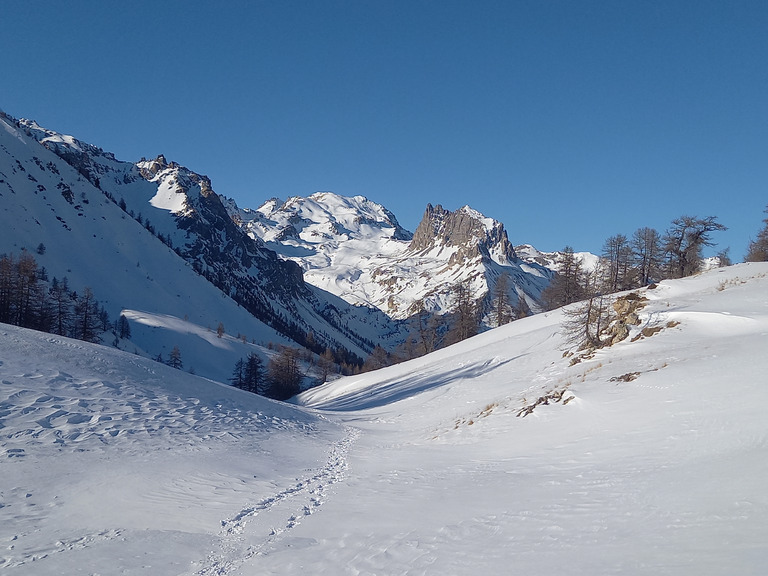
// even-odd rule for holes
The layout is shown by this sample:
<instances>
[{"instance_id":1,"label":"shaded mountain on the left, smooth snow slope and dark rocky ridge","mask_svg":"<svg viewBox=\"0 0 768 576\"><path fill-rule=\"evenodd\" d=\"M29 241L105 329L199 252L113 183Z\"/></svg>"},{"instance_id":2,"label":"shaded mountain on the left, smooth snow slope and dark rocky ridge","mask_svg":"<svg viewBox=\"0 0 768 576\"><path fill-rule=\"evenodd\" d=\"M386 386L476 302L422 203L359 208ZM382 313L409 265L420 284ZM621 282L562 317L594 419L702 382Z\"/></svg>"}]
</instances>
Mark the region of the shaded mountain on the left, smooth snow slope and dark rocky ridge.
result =
<instances>
[{"instance_id":1,"label":"shaded mountain on the left, smooth snow slope and dark rocky ridge","mask_svg":"<svg viewBox=\"0 0 768 576\"><path fill-rule=\"evenodd\" d=\"M194 357L190 368L221 379L246 352L237 341L330 347L342 359L404 337L378 310L304 282L296 264L234 224L205 176L163 156L123 162L2 116L0 198L0 253L43 245L35 256L51 277L89 286L113 318L139 324L120 344L137 353L178 345ZM232 342L199 337L219 323ZM214 360L222 348L230 353Z\"/></svg>"}]
</instances>

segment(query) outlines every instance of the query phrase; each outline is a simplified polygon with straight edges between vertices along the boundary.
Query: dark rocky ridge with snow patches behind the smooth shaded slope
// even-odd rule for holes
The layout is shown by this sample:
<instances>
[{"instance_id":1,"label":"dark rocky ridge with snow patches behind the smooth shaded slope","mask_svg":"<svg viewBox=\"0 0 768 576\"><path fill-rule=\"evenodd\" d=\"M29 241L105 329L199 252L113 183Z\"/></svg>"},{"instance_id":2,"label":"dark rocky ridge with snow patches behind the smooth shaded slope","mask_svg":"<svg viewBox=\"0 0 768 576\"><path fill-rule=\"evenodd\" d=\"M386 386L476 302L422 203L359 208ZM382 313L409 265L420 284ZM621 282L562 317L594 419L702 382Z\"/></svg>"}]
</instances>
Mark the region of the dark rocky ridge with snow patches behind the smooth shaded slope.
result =
<instances>
[{"instance_id":1,"label":"dark rocky ridge with snow patches behind the smooth shaded slope","mask_svg":"<svg viewBox=\"0 0 768 576\"><path fill-rule=\"evenodd\" d=\"M365 357L377 334L361 335L368 311L304 282L301 267L250 237L225 207L208 177L162 154L136 164L100 148L21 120L18 127L99 188L125 213L172 248L245 310L300 345L347 350ZM62 195L73 203L71 191ZM163 249L158 244L158 249ZM378 310L373 311L386 318ZM389 319L387 319L389 320ZM393 332L387 326L380 334ZM308 335L312 335L311 339Z\"/></svg>"}]
</instances>

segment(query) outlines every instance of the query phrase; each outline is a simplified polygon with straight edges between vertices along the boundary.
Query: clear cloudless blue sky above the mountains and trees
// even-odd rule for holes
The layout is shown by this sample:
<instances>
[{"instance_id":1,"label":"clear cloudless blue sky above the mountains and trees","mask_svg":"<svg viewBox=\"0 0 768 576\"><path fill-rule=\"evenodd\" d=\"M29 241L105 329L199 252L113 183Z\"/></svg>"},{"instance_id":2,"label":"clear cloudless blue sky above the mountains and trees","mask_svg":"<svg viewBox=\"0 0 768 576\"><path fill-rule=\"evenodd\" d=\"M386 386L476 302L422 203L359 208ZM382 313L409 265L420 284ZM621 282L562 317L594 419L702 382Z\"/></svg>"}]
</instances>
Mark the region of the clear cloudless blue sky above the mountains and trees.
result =
<instances>
[{"instance_id":1,"label":"clear cloudless blue sky above the mountains and trees","mask_svg":"<svg viewBox=\"0 0 768 576\"><path fill-rule=\"evenodd\" d=\"M0 6L0 107L159 153L244 207L428 202L599 252L682 214L740 261L768 204L764 0L35 1Z\"/></svg>"}]
</instances>

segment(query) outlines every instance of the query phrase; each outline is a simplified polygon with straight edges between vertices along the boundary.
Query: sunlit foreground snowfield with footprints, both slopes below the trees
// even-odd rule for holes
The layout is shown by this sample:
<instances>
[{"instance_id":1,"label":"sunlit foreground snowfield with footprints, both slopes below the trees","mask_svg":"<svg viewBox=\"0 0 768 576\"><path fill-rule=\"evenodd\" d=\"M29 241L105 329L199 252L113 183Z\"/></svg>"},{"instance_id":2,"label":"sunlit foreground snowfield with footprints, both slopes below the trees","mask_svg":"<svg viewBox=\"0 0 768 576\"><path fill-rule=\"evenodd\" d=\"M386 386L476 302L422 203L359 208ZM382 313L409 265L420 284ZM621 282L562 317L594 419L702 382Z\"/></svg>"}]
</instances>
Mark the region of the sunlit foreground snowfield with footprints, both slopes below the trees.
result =
<instances>
[{"instance_id":1,"label":"sunlit foreground snowfield with footprints, both slopes below the trees","mask_svg":"<svg viewBox=\"0 0 768 576\"><path fill-rule=\"evenodd\" d=\"M299 406L0 326L0 568L765 574L768 264L641 293L573 365L555 311Z\"/></svg>"}]
</instances>

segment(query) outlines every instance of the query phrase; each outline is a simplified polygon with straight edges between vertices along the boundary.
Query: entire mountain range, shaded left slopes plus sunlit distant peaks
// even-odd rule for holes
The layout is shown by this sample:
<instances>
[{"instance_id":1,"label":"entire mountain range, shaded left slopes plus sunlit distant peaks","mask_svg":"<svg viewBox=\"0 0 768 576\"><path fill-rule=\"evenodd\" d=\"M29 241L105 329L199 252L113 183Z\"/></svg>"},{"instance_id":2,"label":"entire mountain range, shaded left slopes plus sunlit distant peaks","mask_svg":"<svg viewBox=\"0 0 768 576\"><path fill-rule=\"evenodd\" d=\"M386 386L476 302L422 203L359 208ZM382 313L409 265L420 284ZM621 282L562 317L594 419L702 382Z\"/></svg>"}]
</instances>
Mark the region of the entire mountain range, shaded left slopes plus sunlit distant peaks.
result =
<instances>
[{"instance_id":1,"label":"entire mountain range, shaded left slopes plus sunlit distant peaks","mask_svg":"<svg viewBox=\"0 0 768 576\"><path fill-rule=\"evenodd\" d=\"M186 347L198 373L219 379L269 343L353 362L376 346L395 350L417 311L453 311L457 283L490 327L502 275L510 304L536 312L554 274L554 255L516 250L501 223L468 206L428 205L414 233L362 196L240 208L162 155L120 161L5 114L0 200L0 254L43 245L35 258L50 277L90 287L111 316L135 324L119 347L150 357ZM201 337L219 324L226 337ZM205 360L212 349L224 360Z\"/></svg>"}]
</instances>

